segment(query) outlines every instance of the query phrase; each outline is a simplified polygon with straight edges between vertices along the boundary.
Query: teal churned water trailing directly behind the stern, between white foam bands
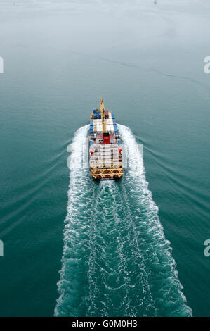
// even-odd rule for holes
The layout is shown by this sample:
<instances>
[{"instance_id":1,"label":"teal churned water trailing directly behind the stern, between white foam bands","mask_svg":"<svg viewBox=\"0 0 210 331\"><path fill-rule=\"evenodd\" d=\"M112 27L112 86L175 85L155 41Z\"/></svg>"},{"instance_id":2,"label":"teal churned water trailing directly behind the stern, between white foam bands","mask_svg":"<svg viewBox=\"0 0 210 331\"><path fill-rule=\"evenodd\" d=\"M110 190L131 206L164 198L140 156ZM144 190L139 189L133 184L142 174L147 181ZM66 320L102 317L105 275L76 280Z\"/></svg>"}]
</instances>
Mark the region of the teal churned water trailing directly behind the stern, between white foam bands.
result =
<instances>
[{"instance_id":1,"label":"teal churned water trailing directly behind the stern, between white foam bands","mask_svg":"<svg viewBox=\"0 0 210 331\"><path fill-rule=\"evenodd\" d=\"M154 316L147 275L117 182L100 182L95 212L87 316Z\"/></svg>"}]
</instances>

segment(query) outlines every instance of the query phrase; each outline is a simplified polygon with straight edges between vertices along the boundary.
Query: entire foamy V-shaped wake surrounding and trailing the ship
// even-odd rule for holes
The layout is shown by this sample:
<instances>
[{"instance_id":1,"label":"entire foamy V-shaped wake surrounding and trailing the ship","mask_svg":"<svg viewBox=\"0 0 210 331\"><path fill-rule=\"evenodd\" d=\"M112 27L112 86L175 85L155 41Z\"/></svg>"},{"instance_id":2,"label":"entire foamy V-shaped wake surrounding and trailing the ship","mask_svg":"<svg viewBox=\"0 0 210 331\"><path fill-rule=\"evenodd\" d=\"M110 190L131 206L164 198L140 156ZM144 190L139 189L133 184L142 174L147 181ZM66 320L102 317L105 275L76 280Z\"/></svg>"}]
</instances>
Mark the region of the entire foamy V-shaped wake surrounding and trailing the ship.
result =
<instances>
[{"instance_id":1,"label":"entire foamy V-shaped wake surrounding and trailing the ship","mask_svg":"<svg viewBox=\"0 0 210 331\"><path fill-rule=\"evenodd\" d=\"M74 136L55 316L192 316L138 144L118 128L129 161L119 182L91 179L88 125Z\"/></svg>"}]
</instances>

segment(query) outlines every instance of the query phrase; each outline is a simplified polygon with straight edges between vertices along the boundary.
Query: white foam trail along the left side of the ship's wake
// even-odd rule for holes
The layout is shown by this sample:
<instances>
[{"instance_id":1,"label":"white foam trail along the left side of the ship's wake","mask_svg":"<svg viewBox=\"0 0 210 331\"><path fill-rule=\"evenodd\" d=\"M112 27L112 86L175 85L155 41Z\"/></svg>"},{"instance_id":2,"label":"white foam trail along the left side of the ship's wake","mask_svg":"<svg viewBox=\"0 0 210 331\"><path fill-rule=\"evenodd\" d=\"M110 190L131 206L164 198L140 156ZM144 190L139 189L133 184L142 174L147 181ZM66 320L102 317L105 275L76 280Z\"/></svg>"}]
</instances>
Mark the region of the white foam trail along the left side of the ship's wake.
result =
<instances>
[{"instance_id":1,"label":"white foam trail along the left side of the ship's wake","mask_svg":"<svg viewBox=\"0 0 210 331\"><path fill-rule=\"evenodd\" d=\"M86 256L83 249L87 242L88 220L91 218L91 185L88 169L83 167L83 151L88 125L75 133L67 165L70 168L70 189L68 191L67 216L65 218L62 269L55 306L55 316L79 316L83 307L79 306L84 296L81 289L85 275ZM79 281L81 278L81 281Z\"/></svg>"}]
</instances>

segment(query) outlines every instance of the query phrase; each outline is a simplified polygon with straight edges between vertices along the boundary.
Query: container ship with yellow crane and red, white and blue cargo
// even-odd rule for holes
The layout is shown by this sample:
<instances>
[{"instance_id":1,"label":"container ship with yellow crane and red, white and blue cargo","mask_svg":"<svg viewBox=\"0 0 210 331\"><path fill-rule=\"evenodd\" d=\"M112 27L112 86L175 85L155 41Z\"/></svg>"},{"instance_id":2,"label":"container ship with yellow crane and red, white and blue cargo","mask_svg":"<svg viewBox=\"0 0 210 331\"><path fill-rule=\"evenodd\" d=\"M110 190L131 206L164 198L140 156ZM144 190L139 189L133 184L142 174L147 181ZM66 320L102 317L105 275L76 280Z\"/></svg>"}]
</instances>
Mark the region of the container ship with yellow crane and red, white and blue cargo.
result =
<instances>
[{"instance_id":1,"label":"container ship with yellow crane and red, white and blue cargo","mask_svg":"<svg viewBox=\"0 0 210 331\"><path fill-rule=\"evenodd\" d=\"M89 164L95 180L117 180L122 177L120 142L114 113L105 110L100 98L100 108L91 113L89 132Z\"/></svg>"}]
</instances>

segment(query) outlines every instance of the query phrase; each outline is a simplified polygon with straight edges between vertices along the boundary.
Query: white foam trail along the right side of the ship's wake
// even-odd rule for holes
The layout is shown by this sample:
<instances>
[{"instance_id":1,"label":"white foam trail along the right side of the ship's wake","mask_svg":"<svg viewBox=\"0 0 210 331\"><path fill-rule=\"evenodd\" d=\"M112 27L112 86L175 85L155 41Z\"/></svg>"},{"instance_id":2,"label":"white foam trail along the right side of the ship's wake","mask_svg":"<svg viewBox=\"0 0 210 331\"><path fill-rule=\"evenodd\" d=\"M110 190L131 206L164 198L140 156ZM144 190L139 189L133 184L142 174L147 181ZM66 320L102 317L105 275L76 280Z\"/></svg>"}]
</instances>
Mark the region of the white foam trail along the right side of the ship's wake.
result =
<instances>
[{"instance_id":1,"label":"white foam trail along the right side of the ship's wake","mask_svg":"<svg viewBox=\"0 0 210 331\"><path fill-rule=\"evenodd\" d=\"M136 231L140 233L140 245L146 247L143 258L148 269L150 286L155 287L152 294L153 299L156 296L156 301L160 302L159 307L157 306L157 316L161 316L161 314L192 316L192 309L185 304L186 298L182 292L183 286L178 280L176 262L171 256L170 242L164 237L164 231L158 218L158 208L152 200L152 193L145 180L142 153L138 149L131 130L124 125L118 125L118 127L126 145L129 161L126 180L124 180L127 192L126 200L131 198L130 200L134 203L129 208L136 219ZM160 274L162 275L160 276Z\"/></svg>"}]
</instances>

